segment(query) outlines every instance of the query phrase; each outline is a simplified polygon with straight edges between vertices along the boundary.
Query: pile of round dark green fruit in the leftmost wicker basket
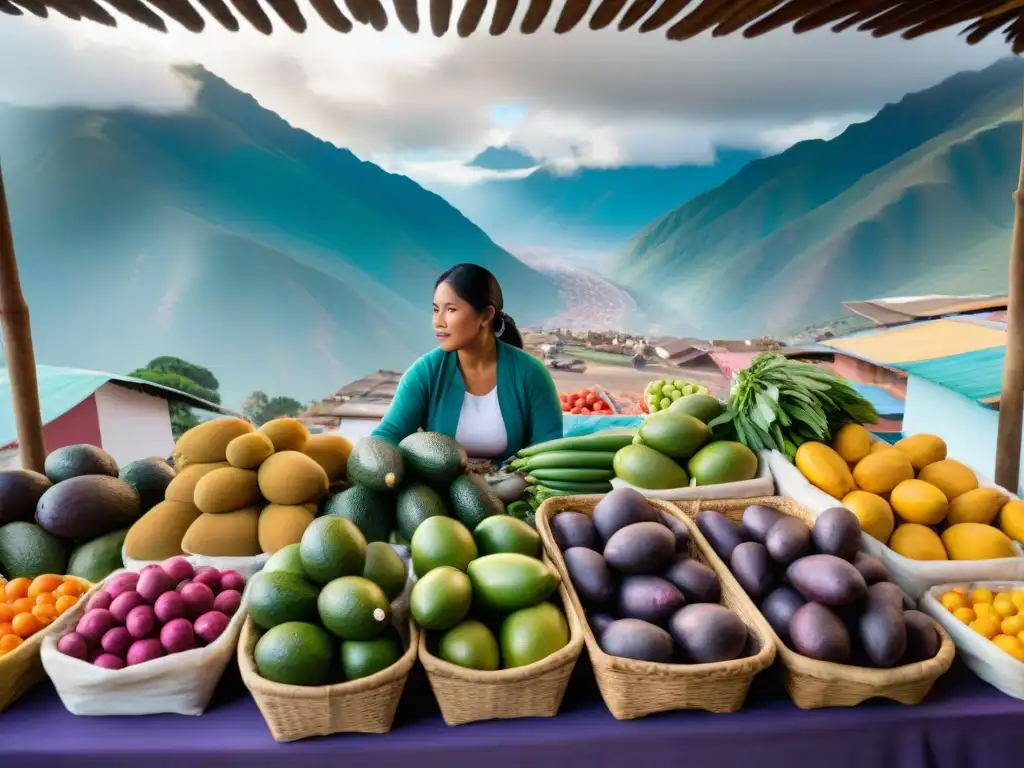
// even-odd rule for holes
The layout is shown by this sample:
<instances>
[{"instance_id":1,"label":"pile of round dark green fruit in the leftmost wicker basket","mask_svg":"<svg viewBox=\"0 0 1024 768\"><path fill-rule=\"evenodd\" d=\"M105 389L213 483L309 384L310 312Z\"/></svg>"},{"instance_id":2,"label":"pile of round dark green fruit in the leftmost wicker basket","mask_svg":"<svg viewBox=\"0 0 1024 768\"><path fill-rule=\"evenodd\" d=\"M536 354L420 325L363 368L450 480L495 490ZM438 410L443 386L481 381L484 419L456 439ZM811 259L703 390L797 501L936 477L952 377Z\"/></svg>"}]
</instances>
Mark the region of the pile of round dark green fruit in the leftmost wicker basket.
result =
<instances>
[{"instance_id":1,"label":"pile of round dark green fruit in the leftmost wicker basket","mask_svg":"<svg viewBox=\"0 0 1024 768\"><path fill-rule=\"evenodd\" d=\"M389 545L368 543L338 515L316 518L253 580L257 672L285 685L319 686L387 669L404 652L391 601L406 579Z\"/></svg>"}]
</instances>

